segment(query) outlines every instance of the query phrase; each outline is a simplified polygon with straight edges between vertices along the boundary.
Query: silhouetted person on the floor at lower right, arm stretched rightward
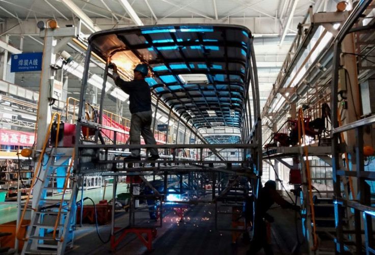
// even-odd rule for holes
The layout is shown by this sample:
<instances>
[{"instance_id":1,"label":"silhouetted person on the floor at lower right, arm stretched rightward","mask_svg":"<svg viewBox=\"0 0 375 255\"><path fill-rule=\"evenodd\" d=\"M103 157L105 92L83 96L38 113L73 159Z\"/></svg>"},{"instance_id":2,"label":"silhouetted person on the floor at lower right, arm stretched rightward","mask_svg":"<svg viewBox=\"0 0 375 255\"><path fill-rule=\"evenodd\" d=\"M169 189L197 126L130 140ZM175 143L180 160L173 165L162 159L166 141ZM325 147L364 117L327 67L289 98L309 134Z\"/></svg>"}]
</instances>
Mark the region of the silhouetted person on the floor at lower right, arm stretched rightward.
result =
<instances>
[{"instance_id":1,"label":"silhouetted person on the floor at lower right, arm stretched rightward","mask_svg":"<svg viewBox=\"0 0 375 255\"><path fill-rule=\"evenodd\" d=\"M247 255L256 254L261 248L264 249L266 255L273 254L271 244L267 238L266 221L273 222L274 218L267 213L267 210L274 204L279 204L283 209L289 208L300 211L301 207L293 205L284 200L276 191L276 182L269 180L264 184L264 187L259 189L258 199L255 207L254 216L254 231L250 242L250 249Z\"/></svg>"}]
</instances>

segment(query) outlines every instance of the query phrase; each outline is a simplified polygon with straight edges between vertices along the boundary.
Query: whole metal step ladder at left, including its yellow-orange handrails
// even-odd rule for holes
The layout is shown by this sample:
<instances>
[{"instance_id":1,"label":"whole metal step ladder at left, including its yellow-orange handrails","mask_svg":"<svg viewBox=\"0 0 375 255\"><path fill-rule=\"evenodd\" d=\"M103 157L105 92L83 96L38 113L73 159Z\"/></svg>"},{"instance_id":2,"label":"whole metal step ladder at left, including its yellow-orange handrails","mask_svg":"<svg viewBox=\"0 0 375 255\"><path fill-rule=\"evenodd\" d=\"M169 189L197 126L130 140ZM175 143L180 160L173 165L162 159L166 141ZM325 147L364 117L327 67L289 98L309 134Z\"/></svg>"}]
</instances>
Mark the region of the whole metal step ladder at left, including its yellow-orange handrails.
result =
<instances>
[{"instance_id":1,"label":"whole metal step ladder at left, including its yellow-orange handrails","mask_svg":"<svg viewBox=\"0 0 375 255\"><path fill-rule=\"evenodd\" d=\"M57 117L55 147L50 148L50 132ZM74 158L74 148L58 148L60 115L55 113L51 118L45 135L39 160L35 168L31 193L26 198L19 222L23 222L26 212L31 212L31 222L25 236L21 235L21 223L17 226L16 238L23 240L21 254L62 254L68 242L73 240L75 222L75 199L78 191L77 182L70 178ZM55 175L56 173L56 175ZM57 180L58 187L48 187L49 182ZM70 188L68 184L71 183ZM47 191L62 191L61 199L47 198ZM70 199L65 198L71 190Z\"/></svg>"}]
</instances>

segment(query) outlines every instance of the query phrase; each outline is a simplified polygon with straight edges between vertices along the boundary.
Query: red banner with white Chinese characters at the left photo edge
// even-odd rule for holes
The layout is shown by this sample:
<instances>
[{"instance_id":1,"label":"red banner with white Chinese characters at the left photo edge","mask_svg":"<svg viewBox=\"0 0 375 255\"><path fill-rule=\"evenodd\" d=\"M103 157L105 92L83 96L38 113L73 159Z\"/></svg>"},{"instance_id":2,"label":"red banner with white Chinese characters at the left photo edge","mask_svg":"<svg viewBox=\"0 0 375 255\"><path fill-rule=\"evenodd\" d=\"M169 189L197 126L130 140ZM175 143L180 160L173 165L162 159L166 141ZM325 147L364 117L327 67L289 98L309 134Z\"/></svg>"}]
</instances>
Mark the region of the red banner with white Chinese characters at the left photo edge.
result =
<instances>
[{"instance_id":1,"label":"red banner with white Chinese characters at the left photo edge","mask_svg":"<svg viewBox=\"0 0 375 255\"><path fill-rule=\"evenodd\" d=\"M34 133L0 129L0 145L32 146Z\"/></svg>"}]
</instances>

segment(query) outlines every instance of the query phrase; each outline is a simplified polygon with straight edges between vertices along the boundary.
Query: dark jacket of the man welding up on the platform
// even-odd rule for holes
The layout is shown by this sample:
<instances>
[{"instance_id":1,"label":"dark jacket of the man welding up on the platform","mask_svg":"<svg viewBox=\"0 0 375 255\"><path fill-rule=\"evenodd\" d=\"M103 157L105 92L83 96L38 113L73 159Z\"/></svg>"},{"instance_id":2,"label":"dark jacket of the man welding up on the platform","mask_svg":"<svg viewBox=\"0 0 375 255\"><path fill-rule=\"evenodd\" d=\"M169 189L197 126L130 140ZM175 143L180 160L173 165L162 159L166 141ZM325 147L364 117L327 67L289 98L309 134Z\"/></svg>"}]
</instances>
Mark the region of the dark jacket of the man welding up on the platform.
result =
<instances>
[{"instance_id":1,"label":"dark jacket of the man welding up on the platform","mask_svg":"<svg viewBox=\"0 0 375 255\"><path fill-rule=\"evenodd\" d=\"M131 114L151 110L151 90L145 79L124 81L117 77L115 83L129 95L129 110Z\"/></svg>"}]
</instances>

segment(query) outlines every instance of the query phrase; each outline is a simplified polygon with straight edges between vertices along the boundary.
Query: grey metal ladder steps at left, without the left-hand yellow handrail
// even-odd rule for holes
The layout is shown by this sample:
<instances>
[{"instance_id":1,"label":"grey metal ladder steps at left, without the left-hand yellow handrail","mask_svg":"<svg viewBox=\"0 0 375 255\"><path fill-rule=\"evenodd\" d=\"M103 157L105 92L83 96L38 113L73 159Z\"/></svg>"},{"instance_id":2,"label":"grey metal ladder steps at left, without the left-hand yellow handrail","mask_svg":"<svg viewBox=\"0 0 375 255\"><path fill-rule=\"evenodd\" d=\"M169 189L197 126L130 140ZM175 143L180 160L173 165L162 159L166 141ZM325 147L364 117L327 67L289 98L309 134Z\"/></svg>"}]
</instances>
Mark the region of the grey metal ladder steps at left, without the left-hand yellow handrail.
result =
<instances>
[{"instance_id":1,"label":"grey metal ladder steps at left, without the left-hand yellow handrail","mask_svg":"<svg viewBox=\"0 0 375 255\"><path fill-rule=\"evenodd\" d=\"M34 189L31 223L26 234L21 254L63 254L68 242L73 241L75 223L75 198L78 191L77 183L70 178L71 162L74 157L73 148L52 148L44 169L41 169L38 182L40 188ZM69 163L70 161L70 163ZM57 175L65 169L64 175ZM50 181L63 179L63 187L48 187ZM72 182L71 188L68 188ZM59 187L60 186L60 187ZM35 185L34 185L35 187ZM62 190L62 198L47 198L47 191ZM71 191L70 199L65 199L66 191Z\"/></svg>"}]
</instances>

